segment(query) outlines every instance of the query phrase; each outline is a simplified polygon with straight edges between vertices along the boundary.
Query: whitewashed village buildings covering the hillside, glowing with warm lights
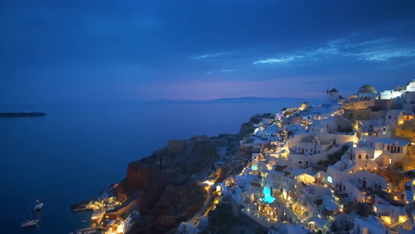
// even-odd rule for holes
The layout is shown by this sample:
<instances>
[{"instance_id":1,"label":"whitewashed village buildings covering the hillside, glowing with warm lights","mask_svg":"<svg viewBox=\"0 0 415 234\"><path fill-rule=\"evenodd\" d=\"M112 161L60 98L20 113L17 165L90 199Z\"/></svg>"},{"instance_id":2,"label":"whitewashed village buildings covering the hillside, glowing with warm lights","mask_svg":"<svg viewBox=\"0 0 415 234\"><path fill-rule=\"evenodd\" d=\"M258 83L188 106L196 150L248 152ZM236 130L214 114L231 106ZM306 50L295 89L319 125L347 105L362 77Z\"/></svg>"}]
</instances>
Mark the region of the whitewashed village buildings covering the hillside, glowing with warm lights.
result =
<instances>
[{"instance_id":1,"label":"whitewashed village buildings covering the hillside, glowing with warm lights","mask_svg":"<svg viewBox=\"0 0 415 234\"><path fill-rule=\"evenodd\" d=\"M327 96L255 125L225 194L269 233L414 233L415 80Z\"/></svg>"}]
</instances>

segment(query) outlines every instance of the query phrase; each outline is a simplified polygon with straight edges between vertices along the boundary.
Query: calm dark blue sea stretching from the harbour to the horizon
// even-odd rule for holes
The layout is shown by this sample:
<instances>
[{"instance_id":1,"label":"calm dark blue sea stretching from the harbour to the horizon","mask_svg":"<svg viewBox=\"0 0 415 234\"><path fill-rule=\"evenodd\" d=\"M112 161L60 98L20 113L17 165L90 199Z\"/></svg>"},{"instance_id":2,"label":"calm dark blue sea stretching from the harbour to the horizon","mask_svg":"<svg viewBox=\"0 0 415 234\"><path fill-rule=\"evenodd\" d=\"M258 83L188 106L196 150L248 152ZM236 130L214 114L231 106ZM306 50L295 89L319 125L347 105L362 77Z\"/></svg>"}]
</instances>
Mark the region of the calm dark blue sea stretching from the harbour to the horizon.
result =
<instances>
[{"instance_id":1,"label":"calm dark blue sea stretching from the harbour to the horizon","mask_svg":"<svg viewBox=\"0 0 415 234\"><path fill-rule=\"evenodd\" d=\"M37 118L0 118L0 233L70 233L89 212L70 205L124 178L130 161L170 139L237 133L260 112L300 100L0 106L0 112L41 111ZM36 228L22 229L35 199L45 203Z\"/></svg>"}]
</instances>

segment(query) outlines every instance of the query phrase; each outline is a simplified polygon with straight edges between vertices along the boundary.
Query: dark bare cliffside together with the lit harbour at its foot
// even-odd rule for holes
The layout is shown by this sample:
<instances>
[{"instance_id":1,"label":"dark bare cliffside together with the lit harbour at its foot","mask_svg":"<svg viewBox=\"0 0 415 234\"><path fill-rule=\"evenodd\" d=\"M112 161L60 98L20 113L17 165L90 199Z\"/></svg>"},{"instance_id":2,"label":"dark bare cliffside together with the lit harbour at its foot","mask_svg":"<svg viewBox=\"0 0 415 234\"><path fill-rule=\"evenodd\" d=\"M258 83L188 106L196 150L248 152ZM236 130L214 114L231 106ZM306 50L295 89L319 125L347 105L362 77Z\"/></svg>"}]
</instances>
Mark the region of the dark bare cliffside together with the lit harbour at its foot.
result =
<instances>
[{"instance_id":1,"label":"dark bare cliffside together with the lit harbour at its foot","mask_svg":"<svg viewBox=\"0 0 415 234\"><path fill-rule=\"evenodd\" d=\"M136 218L139 218L133 222L130 233L166 233L197 214L207 215L217 194L207 190L203 182L221 183L241 171L253 152L241 151L239 141L253 133L253 124L257 121L260 118L253 116L248 123L241 124L236 135L196 135L188 140L170 140L167 147L130 162L127 176L113 194L113 200L118 202L113 205L117 208L125 206L127 201L131 203L133 197L134 209L129 209L127 214L138 209ZM109 210L104 211L105 205L96 206L96 202L104 200L99 195L96 199L73 204L71 209L73 212L92 210L91 219L106 226L110 219L104 214ZM104 211L98 219L94 217L97 211Z\"/></svg>"}]
</instances>

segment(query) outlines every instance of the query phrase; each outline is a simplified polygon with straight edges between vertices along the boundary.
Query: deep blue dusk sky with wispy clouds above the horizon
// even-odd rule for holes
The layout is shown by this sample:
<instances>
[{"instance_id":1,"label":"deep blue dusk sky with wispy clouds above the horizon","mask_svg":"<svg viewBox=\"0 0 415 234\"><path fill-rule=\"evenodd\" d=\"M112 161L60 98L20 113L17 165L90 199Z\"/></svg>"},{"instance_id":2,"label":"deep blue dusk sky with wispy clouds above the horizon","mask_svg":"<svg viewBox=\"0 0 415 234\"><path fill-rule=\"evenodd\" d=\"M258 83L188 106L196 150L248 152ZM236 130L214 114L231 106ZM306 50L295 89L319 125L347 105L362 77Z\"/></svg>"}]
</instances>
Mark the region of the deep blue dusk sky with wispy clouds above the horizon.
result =
<instances>
[{"instance_id":1,"label":"deep blue dusk sky with wispy clouds above the horizon","mask_svg":"<svg viewBox=\"0 0 415 234\"><path fill-rule=\"evenodd\" d=\"M0 103L352 94L415 79L415 1L0 1Z\"/></svg>"}]
</instances>

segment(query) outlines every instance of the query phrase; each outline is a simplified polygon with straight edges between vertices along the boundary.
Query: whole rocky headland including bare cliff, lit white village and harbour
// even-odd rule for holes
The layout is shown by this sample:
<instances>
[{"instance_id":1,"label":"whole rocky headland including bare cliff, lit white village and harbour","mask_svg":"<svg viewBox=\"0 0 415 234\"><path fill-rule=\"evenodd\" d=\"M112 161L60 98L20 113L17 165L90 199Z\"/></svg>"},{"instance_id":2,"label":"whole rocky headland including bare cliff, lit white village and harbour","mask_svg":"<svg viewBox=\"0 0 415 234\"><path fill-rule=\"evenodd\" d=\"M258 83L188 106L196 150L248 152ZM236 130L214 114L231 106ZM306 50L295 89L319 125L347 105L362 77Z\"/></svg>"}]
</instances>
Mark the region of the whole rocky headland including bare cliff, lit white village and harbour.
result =
<instances>
[{"instance_id":1,"label":"whole rocky headland including bare cliff, lit white village and harbour","mask_svg":"<svg viewBox=\"0 0 415 234\"><path fill-rule=\"evenodd\" d=\"M377 207L370 206L374 197L380 204L412 212L407 204L412 202L409 189L415 180L402 171L415 168L415 160L405 155L412 144L400 135L413 136L395 130L403 129L405 122L413 129L415 112L402 109L404 101L392 106L401 109L381 109L381 101L367 108L367 90L379 100L370 85L359 89L362 99L340 101L333 88L328 103L303 102L275 114L258 113L241 124L236 135L170 140L150 156L130 162L114 195L100 195L87 204L98 205L91 219L98 228L113 228L115 222L120 228L122 218L138 209L140 218L135 216L127 233L307 233L351 230L334 225L336 218L356 211L355 221L369 217L379 230L392 230L388 223L373 219ZM355 105L365 109L356 110ZM392 227L405 220L411 221L400 218Z\"/></svg>"}]
</instances>

